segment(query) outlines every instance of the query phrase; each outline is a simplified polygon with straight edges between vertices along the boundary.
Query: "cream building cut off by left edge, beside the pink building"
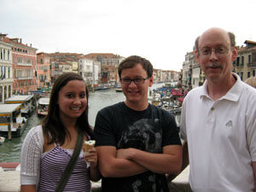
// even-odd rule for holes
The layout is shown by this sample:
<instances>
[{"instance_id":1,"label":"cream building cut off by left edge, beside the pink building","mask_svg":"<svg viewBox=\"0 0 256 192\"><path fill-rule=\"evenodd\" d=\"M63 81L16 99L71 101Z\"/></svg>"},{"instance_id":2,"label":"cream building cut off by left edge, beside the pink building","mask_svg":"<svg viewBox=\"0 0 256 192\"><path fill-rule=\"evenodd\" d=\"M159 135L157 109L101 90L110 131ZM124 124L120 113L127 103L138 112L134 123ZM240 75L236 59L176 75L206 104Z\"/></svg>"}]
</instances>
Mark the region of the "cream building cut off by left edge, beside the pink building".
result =
<instances>
[{"instance_id":1,"label":"cream building cut off by left edge, beside the pink building","mask_svg":"<svg viewBox=\"0 0 256 192\"><path fill-rule=\"evenodd\" d=\"M3 42L5 34L0 34L0 103L12 96L13 67L12 45Z\"/></svg>"}]
</instances>

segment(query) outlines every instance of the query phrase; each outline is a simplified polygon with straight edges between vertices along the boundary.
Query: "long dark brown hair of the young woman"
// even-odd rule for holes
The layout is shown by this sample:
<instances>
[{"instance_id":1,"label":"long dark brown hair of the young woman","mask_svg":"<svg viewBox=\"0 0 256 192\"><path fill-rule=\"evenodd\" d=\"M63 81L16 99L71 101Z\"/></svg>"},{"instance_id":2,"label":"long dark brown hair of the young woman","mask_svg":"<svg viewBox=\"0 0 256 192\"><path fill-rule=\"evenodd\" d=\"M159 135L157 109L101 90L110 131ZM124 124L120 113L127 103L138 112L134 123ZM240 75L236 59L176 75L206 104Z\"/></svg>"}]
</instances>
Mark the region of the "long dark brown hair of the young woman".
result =
<instances>
[{"instance_id":1,"label":"long dark brown hair of the young woman","mask_svg":"<svg viewBox=\"0 0 256 192\"><path fill-rule=\"evenodd\" d=\"M43 120L43 131L44 135L48 138L49 144L51 143L59 143L64 144L65 138L70 137L67 128L62 124L60 119L60 108L58 103L59 92L69 81L79 80L83 81L84 79L77 73L64 73L61 74L53 85L53 88L49 97L49 110L48 115ZM84 84L85 86L85 84ZM88 121L88 98L89 93L86 89L86 100L87 106L84 110L84 113L80 115L76 122L76 128L78 129L79 134L88 133L90 137L92 137L92 129L90 128Z\"/></svg>"}]
</instances>

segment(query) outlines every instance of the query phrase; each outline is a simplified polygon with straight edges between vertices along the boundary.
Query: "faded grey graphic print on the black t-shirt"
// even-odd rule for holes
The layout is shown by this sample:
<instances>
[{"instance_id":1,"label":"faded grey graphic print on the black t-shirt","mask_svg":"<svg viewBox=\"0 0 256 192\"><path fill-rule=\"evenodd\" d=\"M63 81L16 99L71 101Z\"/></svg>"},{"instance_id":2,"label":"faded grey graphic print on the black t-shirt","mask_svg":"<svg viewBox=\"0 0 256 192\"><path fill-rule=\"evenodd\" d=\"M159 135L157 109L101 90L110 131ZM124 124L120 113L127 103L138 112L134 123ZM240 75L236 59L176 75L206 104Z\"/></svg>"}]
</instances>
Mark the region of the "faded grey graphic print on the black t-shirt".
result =
<instances>
[{"instance_id":1,"label":"faded grey graphic print on the black t-shirt","mask_svg":"<svg viewBox=\"0 0 256 192\"><path fill-rule=\"evenodd\" d=\"M159 126L159 119L137 120L122 132L117 148L137 148L149 153L161 153L162 132ZM131 179L130 188L134 192L160 191L161 189L157 189L160 186L162 181L159 176L156 177L153 172L145 172L142 177Z\"/></svg>"}]
</instances>

